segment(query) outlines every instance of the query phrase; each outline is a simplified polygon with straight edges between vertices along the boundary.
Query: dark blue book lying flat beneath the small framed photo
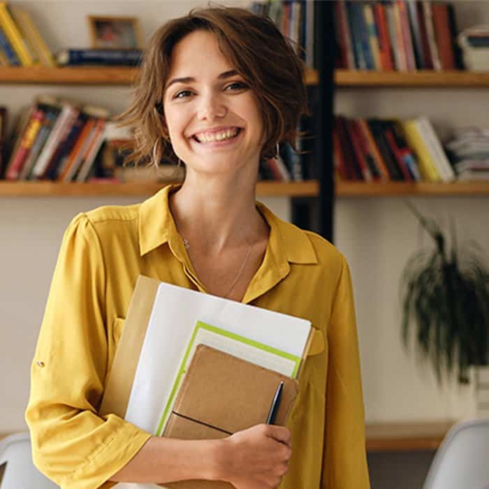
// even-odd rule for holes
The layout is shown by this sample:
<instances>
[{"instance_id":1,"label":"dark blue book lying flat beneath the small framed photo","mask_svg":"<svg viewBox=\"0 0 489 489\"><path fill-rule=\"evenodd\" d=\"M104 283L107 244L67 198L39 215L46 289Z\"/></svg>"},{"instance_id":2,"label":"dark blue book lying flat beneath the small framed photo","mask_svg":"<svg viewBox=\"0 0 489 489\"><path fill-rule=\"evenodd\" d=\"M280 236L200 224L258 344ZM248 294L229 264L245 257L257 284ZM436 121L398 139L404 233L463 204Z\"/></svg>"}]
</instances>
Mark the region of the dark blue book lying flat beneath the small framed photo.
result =
<instances>
[{"instance_id":1,"label":"dark blue book lying flat beneath the small framed photo","mask_svg":"<svg viewBox=\"0 0 489 489\"><path fill-rule=\"evenodd\" d=\"M139 49L68 49L57 55L60 66L138 66L143 51Z\"/></svg>"}]
</instances>

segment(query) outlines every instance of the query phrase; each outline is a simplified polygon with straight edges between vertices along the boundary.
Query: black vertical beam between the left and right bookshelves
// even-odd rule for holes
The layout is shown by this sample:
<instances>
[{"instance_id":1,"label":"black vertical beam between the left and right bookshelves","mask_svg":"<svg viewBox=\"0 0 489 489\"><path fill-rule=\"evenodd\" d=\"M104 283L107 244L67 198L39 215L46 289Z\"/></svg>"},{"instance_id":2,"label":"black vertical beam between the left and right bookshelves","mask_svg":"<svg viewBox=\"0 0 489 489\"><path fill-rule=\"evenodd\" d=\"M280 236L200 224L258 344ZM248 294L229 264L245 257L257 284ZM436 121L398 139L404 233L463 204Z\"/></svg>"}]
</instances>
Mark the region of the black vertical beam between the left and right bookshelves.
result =
<instances>
[{"instance_id":1,"label":"black vertical beam between the left and right bookshelves","mask_svg":"<svg viewBox=\"0 0 489 489\"><path fill-rule=\"evenodd\" d=\"M314 36L315 63L319 75L314 164L319 178L319 234L333 242L335 182L333 165L333 94L335 75L334 2L315 1Z\"/></svg>"}]
</instances>

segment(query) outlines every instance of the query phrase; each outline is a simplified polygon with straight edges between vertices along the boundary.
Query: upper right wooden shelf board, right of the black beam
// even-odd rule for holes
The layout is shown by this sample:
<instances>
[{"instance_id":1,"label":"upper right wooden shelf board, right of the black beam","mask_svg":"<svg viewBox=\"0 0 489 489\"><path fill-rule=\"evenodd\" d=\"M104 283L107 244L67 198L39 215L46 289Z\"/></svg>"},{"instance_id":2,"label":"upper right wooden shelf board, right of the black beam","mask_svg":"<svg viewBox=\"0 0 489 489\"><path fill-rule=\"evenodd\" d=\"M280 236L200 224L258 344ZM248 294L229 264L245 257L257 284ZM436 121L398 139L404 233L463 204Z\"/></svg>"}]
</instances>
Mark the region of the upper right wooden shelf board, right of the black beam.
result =
<instances>
[{"instance_id":1,"label":"upper right wooden shelf board, right of the black beam","mask_svg":"<svg viewBox=\"0 0 489 489\"><path fill-rule=\"evenodd\" d=\"M335 72L337 87L489 88L489 73L471 71L349 71Z\"/></svg>"}]
</instances>

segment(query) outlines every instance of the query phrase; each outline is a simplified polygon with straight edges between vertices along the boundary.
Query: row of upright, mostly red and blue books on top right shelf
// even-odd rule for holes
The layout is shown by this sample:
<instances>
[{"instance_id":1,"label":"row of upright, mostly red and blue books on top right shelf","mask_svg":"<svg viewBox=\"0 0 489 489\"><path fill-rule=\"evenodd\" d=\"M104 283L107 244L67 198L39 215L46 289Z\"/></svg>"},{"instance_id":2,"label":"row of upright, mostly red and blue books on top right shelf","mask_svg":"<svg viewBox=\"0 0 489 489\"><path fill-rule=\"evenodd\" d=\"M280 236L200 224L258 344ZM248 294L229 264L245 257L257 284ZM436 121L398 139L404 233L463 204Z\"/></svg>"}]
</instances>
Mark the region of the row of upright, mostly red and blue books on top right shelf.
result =
<instances>
[{"instance_id":1,"label":"row of upright, mostly red and blue books on top right shelf","mask_svg":"<svg viewBox=\"0 0 489 489\"><path fill-rule=\"evenodd\" d=\"M335 2L337 68L463 69L450 3L415 0Z\"/></svg>"}]
</instances>

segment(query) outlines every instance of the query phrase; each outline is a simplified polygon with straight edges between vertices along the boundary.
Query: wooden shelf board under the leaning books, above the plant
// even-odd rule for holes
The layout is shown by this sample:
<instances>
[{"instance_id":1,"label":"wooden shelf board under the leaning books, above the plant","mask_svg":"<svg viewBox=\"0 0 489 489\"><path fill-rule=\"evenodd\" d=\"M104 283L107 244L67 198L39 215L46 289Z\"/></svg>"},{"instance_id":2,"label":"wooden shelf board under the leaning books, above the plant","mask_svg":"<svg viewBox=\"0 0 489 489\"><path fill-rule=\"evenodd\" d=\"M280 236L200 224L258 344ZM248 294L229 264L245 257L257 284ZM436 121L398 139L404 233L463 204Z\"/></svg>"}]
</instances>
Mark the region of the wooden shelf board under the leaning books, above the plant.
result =
<instances>
[{"instance_id":1,"label":"wooden shelf board under the leaning books, above the plant","mask_svg":"<svg viewBox=\"0 0 489 489\"><path fill-rule=\"evenodd\" d=\"M489 180L453 183L337 182L336 195L338 197L489 196Z\"/></svg>"}]
</instances>

